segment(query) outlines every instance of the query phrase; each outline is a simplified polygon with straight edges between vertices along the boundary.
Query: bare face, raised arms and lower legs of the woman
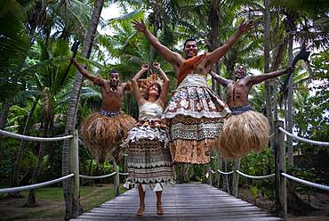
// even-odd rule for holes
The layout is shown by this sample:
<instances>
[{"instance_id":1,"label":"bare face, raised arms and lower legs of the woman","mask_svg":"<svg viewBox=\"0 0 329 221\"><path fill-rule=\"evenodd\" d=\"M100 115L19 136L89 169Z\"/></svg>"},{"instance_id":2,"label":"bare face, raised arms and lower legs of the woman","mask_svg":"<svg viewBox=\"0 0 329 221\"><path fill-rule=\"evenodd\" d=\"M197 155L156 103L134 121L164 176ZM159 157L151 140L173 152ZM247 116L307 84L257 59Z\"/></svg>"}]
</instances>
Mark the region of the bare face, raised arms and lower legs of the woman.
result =
<instances>
[{"instance_id":1,"label":"bare face, raised arms and lower legs of the woman","mask_svg":"<svg viewBox=\"0 0 329 221\"><path fill-rule=\"evenodd\" d=\"M146 102L156 102L161 107L164 108L164 103L167 98L167 94L169 91L169 78L165 75L164 70L160 68L160 64L158 62L153 63L153 67L158 70L158 73L160 77L164 80L163 88L159 94L157 86L150 86L148 90L148 100L146 100L142 94L140 94L140 88L138 86L138 79L141 77L141 75L148 70L148 65L143 64L141 65L141 69L137 74L132 78L132 92L135 95L136 101L138 103L138 106L140 107ZM140 209L138 209L136 216L142 216L143 212L145 210L145 192L143 191L141 185L138 188L139 196L140 196ZM163 215L164 209L162 208L162 191L156 192L156 214L157 215Z\"/></svg>"}]
</instances>

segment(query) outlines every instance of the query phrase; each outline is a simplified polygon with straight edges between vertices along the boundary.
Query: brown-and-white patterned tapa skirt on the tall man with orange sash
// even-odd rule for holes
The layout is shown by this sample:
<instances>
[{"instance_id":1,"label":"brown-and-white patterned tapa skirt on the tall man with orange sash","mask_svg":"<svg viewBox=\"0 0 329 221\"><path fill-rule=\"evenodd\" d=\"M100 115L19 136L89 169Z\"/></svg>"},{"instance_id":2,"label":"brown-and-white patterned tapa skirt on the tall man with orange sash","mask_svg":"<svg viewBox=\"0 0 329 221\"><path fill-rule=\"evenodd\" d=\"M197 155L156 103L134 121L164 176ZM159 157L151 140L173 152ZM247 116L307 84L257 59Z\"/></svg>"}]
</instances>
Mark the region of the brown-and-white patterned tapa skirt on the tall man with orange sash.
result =
<instances>
[{"instance_id":1,"label":"brown-and-white patterned tapa skirt on the tall man with orange sash","mask_svg":"<svg viewBox=\"0 0 329 221\"><path fill-rule=\"evenodd\" d=\"M227 104L207 85L206 77L189 73L164 110L173 161L209 163L214 139L221 134L229 113Z\"/></svg>"}]
</instances>

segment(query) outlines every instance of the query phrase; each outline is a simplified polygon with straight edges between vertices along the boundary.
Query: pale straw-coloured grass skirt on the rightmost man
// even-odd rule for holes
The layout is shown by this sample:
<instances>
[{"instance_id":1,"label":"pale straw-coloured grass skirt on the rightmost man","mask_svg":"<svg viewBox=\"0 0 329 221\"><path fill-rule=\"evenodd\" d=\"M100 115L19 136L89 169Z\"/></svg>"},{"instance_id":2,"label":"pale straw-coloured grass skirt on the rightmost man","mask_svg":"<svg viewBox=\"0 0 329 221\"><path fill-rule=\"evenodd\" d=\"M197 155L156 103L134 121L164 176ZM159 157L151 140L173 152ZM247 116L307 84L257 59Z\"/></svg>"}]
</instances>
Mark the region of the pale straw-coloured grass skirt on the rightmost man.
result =
<instances>
[{"instance_id":1,"label":"pale straw-coloured grass skirt on the rightmost man","mask_svg":"<svg viewBox=\"0 0 329 221\"><path fill-rule=\"evenodd\" d=\"M224 122L215 147L225 158L241 158L262 151L269 143L269 120L256 111L232 115Z\"/></svg>"}]
</instances>

